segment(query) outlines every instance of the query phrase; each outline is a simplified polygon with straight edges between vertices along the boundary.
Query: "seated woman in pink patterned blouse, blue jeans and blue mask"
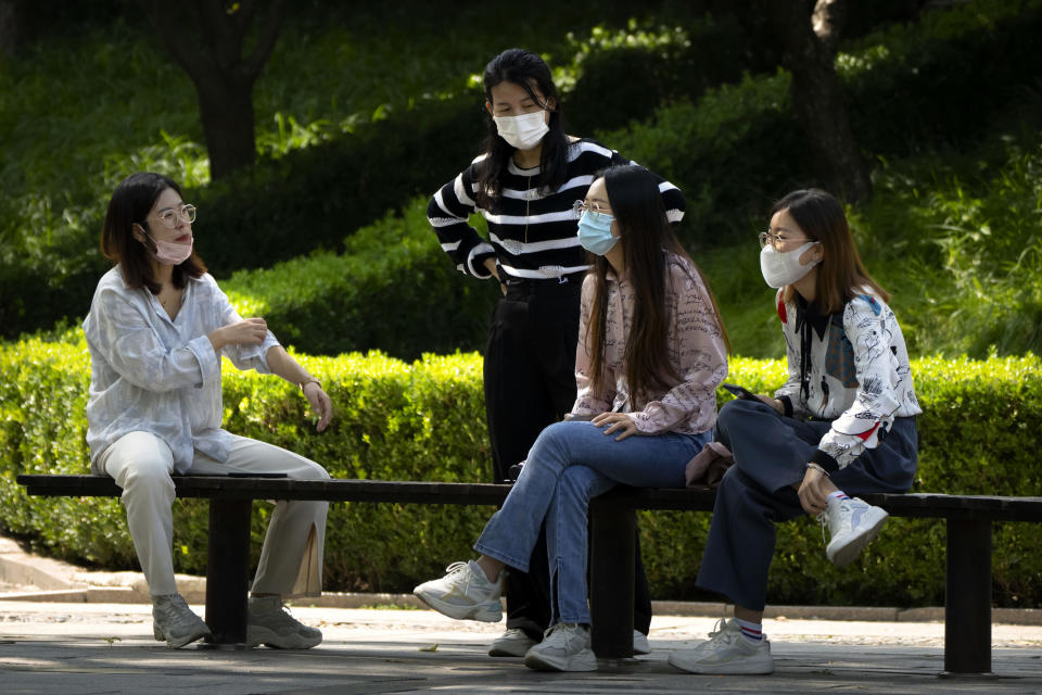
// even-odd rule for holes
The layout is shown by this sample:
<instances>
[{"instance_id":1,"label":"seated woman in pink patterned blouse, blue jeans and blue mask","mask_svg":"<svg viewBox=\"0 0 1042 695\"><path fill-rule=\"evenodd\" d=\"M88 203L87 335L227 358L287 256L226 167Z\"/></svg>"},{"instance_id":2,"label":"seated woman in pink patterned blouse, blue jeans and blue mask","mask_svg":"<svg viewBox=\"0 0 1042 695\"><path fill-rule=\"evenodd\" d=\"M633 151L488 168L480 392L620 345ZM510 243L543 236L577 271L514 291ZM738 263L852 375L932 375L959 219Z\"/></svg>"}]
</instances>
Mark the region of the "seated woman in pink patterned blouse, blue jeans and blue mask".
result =
<instances>
[{"instance_id":1,"label":"seated woman in pink patterned blouse, blue jeans and blue mask","mask_svg":"<svg viewBox=\"0 0 1042 695\"><path fill-rule=\"evenodd\" d=\"M576 201L593 255L583 281L575 379L564 422L543 430L503 508L457 563L416 594L450 618L497 621L505 567L528 570L546 521L554 619L525 666L590 671L587 506L618 484L682 488L711 439L727 375L724 327L709 288L679 247L656 177L607 169Z\"/></svg>"}]
</instances>

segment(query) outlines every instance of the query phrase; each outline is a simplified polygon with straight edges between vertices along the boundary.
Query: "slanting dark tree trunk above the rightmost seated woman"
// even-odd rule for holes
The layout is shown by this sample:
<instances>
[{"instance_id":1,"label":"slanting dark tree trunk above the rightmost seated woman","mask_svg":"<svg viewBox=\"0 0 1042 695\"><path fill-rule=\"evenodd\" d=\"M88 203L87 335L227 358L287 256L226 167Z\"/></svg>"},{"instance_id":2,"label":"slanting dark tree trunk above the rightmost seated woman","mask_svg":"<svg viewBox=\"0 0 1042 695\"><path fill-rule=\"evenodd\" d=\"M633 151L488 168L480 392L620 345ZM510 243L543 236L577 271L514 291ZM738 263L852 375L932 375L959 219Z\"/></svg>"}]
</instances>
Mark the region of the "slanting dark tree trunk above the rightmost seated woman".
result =
<instances>
[{"instance_id":1,"label":"slanting dark tree trunk above the rightmost seated woman","mask_svg":"<svg viewBox=\"0 0 1042 695\"><path fill-rule=\"evenodd\" d=\"M766 8L782 41L783 65L792 74L792 109L817 170L838 195L867 200L868 163L850 127L835 68L842 0L817 0L813 15L803 0L766 0Z\"/></svg>"}]
</instances>

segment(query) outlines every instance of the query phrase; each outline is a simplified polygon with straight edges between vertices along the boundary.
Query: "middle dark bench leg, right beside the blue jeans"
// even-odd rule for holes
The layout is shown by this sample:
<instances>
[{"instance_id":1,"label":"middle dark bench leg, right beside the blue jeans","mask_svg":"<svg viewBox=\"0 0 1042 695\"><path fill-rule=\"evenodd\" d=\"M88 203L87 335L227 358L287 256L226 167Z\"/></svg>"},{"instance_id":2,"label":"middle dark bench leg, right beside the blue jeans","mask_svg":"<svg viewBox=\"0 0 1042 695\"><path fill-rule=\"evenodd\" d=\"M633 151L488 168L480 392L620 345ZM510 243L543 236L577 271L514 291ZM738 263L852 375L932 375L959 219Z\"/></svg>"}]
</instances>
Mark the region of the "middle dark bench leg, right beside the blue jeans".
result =
<instances>
[{"instance_id":1,"label":"middle dark bench leg, right beside the blue jeans","mask_svg":"<svg viewBox=\"0 0 1042 695\"><path fill-rule=\"evenodd\" d=\"M636 513L590 505L589 617L594 654L633 656L633 566Z\"/></svg>"}]
</instances>

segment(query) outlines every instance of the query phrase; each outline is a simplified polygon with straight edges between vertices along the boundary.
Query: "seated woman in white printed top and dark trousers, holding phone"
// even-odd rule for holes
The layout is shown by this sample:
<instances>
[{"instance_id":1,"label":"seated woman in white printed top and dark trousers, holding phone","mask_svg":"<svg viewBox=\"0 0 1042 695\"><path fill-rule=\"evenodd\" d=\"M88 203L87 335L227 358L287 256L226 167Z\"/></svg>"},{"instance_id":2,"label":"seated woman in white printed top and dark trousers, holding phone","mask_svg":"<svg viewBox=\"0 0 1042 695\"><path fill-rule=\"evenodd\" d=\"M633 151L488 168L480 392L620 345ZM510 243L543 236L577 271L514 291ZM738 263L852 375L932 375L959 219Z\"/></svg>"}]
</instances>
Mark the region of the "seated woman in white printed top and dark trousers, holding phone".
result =
<instances>
[{"instance_id":1,"label":"seated woman in white printed top and dark trousers, holding phone","mask_svg":"<svg viewBox=\"0 0 1042 695\"><path fill-rule=\"evenodd\" d=\"M889 295L865 270L843 208L825 191L793 191L771 211L760 265L779 288L788 380L774 397L720 412L717 440L735 457L697 583L735 604L710 640L674 652L692 673L770 673L761 629L775 523L804 514L828 525L828 559L842 567L879 533L887 513L848 495L905 492L922 413ZM813 581L810 578L809 581Z\"/></svg>"}]
</instances>

